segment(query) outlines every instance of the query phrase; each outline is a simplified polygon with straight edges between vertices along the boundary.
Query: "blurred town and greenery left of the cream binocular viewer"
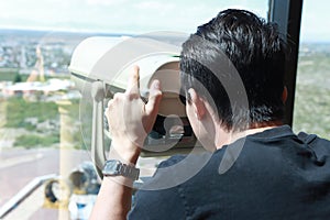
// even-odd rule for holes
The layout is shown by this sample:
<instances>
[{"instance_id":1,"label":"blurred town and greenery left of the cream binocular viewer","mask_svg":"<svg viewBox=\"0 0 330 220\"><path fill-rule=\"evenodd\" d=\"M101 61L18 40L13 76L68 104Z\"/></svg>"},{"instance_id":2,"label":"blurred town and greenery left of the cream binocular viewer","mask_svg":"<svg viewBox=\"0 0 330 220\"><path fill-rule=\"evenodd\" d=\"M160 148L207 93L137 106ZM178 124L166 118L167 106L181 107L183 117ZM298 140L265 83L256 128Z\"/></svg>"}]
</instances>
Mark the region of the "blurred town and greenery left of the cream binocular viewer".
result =
<instances>
[{"instance_id":1,"label":"blurred town and greenery left of the cream binocular viewer","mask_svg":"<svg viewBox=\"0 0 330 220\"><path fill-rule=\"evenodd\" d=\"M84 148L79 124L80 95L70 81L74 48L94 35L0 30L0 147L58 147L59 108L70 117L70 147Z\"/></svg>"}]
</instances>

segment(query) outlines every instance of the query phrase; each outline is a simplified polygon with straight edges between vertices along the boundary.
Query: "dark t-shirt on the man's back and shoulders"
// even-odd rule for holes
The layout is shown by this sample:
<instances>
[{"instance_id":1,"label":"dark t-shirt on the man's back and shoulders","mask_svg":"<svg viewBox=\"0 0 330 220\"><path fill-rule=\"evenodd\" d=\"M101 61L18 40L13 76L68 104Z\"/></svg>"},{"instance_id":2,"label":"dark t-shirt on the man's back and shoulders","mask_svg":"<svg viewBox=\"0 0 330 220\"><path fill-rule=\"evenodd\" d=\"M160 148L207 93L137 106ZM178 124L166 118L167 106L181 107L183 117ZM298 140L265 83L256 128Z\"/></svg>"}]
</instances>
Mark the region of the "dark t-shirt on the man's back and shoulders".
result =
<instances>
[{"instance_id":1,"label":"dark t-shirt on the man's back and shoulders","mask_svg":"<svg viewBox=\"0 0 330 220\"><path fill-rule=\"evenodd\" d=\"M287 125L215 153L174 156L129 219L330 219L330 142Z\"/></svg>"}]
</instances>

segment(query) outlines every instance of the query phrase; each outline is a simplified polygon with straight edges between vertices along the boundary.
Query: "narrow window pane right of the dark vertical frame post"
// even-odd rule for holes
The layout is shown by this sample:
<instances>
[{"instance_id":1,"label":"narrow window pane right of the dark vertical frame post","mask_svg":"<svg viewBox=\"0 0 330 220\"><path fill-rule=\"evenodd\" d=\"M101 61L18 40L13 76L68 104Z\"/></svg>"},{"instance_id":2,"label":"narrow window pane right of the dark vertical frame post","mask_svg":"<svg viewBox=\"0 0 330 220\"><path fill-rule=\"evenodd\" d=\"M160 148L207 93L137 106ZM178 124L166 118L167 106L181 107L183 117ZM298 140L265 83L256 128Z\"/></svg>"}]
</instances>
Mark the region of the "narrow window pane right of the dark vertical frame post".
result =
<instances>
[{"instance_id":1,"label":"narrow window pane right of the dark vertical frame post","mask_svg":"<svg viewBox=\"0 0 330 220\"><path fill-rule=\"evenodd\" d=\"M330 138L330 31L326 0L304 1L294 130Z\"/></svg>"}]
</instances>

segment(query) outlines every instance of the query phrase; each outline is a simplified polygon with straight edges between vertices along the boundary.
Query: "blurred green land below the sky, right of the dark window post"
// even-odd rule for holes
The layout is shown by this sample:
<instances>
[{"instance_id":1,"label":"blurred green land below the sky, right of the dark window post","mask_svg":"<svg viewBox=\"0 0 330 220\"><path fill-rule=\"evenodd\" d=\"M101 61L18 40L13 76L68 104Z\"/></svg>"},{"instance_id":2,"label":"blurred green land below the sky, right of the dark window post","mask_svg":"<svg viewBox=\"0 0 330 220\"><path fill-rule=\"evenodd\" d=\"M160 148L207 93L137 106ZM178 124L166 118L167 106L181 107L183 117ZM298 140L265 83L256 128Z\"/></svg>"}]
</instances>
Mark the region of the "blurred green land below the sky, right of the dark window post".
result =
<instances>
[{"instance_id":1,"label":"blurred green land below the sky, right of the dark window post","mask_svg":"<svg viewBox=\"0 0 330 220\"><path fill-rule=\"evenodd\" d=\"M294 131L330 139L330 43L300 45Z\"/></svg>"}]
</instances>

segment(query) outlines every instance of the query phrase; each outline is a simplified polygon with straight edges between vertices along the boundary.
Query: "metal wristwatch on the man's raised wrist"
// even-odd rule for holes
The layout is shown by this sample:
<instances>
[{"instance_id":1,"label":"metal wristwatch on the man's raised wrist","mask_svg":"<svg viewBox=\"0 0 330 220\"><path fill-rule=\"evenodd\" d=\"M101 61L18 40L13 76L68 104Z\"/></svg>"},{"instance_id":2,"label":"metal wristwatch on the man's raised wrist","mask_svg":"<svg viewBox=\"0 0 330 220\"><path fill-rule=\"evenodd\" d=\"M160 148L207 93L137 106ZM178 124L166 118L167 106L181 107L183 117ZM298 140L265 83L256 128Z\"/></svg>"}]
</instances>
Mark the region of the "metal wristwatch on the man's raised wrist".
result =
<instances>
[{"instance_id":1,"label":"metal wristwatch on the man's raised wrist","mask_svg":"<svg viewBox=\"0 0 330 220\"><path fill-rule=\"evenodd\" d=\"M138 180L140 175L140 169L121 163L118 160L106 161L102 169L103 176L124 176L132 180Z\"/></svg>"}]
</instances>

